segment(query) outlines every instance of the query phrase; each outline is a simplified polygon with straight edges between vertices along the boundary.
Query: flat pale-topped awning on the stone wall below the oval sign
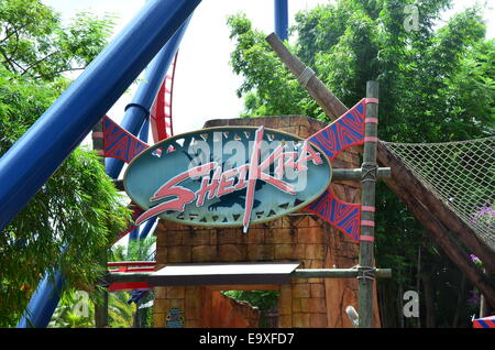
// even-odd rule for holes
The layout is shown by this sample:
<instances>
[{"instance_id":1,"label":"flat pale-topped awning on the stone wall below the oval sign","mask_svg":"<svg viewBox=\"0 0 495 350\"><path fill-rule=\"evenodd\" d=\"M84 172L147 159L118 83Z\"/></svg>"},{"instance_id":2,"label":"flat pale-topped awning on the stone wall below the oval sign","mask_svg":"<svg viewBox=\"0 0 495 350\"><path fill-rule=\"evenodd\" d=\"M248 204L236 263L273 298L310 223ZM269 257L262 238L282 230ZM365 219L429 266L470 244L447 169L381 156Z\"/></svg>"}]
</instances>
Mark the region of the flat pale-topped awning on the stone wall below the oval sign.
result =
<instances>
[{"instance_id":1,"label":"flat pale-topped awning on the stone wall below the oval sign","mask_svg":"<svg viewBox=\"0 0 495 350\"><path fill-rule=\"evenodd\" d=\"M288 284L300 261L173 264L152 273L150 286Z\"/></svg>"}]
</instances>

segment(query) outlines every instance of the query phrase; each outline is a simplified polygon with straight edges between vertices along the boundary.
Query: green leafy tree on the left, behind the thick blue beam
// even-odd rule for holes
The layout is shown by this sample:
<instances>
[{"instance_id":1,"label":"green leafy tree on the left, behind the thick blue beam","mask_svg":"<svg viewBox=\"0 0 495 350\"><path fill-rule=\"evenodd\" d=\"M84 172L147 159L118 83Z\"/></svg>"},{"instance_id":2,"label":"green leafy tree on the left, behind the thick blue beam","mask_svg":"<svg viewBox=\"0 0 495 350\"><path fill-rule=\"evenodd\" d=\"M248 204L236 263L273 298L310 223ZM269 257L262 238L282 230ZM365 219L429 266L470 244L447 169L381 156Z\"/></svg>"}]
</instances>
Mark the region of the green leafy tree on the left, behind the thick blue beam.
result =
<instances>
[{"instance_id":1,"label":"green leafy tree on the left, behind the thick blue beam","mask_svg":"<svg viewBox=\"0 0 495 350\"><path fill-rule=\"evenodd\" d=\"M68 86L62 72L102 50L110 26L85 14L65 28L40 1L0 1L0 156ZM98 254L129 217L98 156L73 152L0 234L0 326L16 324L45 271L92 289Z\"/></svg>"}]
</instances>

